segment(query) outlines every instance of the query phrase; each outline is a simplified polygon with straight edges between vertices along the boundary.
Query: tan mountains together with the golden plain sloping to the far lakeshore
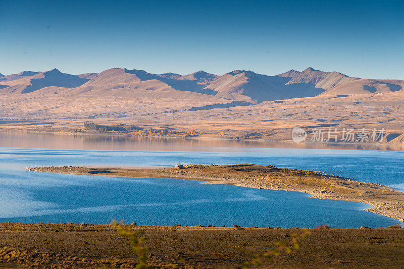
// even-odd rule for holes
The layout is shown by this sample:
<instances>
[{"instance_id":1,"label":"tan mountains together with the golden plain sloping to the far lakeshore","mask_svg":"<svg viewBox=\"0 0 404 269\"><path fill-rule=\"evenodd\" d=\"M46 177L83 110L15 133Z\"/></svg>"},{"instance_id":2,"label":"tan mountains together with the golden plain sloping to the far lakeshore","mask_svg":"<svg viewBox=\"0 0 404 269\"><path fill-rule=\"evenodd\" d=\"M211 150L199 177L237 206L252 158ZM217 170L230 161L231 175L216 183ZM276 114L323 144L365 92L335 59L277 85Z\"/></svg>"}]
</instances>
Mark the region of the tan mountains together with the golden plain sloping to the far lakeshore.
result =
<instances>
[{"instance_id":1,"label":"tan mountains together with the golden plain sloping to the far lakeshore","mask_svg":"<svg viewBox=\"0 0 404 269\"><path fill-rule=\"evenodd\" d=\"M389 138L404 143L403 86L403 80L313 68L276 76L246 70L222 76L120 68L80 75L24 71L0 76L0 127L76 129L91 121L236 137L260 131L274 140L290 139L294 126L385 128Z\"/></svg>"}]
</instances>

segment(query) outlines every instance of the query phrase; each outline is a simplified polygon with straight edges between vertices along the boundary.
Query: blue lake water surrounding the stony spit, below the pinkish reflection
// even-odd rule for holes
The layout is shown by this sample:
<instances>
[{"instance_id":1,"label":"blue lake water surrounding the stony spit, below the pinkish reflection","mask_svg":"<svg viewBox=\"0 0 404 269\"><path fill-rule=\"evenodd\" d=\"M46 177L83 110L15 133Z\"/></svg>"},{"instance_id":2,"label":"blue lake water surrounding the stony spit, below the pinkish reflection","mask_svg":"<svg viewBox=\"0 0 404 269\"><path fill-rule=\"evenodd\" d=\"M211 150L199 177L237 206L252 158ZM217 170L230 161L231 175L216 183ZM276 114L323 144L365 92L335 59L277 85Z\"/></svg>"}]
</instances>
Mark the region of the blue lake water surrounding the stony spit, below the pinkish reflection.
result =
<instances>
[{"instance_id":1,"label":"blue lake water surrounding the stony spit, below the pinkish reflection","mask_svg":"<svg viewBox=\"0 0 404 269\"><path fill-rule=\"evenodd\" d=\"M134 143L134 142L132 142ZM168 142L165 142L166 144ZM164 145L167 149L170 145ZM404 188L404 152L260 147L187 151L0 148L0 222L110 223L334 228L386 227L391 218L366 204L305 193L207 185L179 179L132 179L25 171L32 166L174 166L254 163L325 171ZM197 149L198 151L195 151ZM205 151L201 151L205 149Z\"/></svg>"}]
</instances>

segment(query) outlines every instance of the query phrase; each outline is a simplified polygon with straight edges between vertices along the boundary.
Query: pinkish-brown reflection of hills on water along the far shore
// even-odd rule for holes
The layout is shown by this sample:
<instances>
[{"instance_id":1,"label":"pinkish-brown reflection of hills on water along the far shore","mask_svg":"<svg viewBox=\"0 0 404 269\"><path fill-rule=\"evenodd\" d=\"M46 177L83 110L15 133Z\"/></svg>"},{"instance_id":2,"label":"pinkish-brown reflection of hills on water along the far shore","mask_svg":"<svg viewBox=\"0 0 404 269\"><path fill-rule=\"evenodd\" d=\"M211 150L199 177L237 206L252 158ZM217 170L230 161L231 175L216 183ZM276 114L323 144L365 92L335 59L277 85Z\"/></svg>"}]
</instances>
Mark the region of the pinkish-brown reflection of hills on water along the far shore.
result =
<instances>
[{"instance_id":1,"label":"pinkish-brown reflection of hills on water along the far shore","mask_svg":"<svg viewBox=\"0 0 404 269\"><path fill-rule=\"evenodd\" d=\"M147 138L107 136L104 134L28 133L16 131L0 131L0 147L117 151L237 151L237 148L404 151L404 145Z\"/></svg>"}]
</instances>

